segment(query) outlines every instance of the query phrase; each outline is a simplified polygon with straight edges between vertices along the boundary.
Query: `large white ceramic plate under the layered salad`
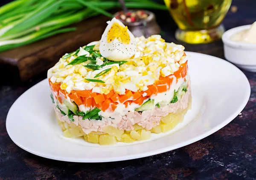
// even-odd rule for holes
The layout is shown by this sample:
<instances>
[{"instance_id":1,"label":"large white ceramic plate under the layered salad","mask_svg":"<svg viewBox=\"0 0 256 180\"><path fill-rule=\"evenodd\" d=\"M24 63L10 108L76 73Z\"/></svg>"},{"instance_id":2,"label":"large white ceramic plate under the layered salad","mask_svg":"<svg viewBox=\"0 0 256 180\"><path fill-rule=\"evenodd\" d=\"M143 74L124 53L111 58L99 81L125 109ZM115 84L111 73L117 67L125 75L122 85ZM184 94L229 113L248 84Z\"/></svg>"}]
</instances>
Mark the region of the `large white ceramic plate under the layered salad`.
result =
<instances>
[{"instance_id":1,"label":"large white ceramic plate under the layered salad","mask_svg":"<svg viewBox=\"0 0 256 180\"><path fill-rule=\"evenodd\" d=\"M218 131L240 112L250 96L246 76L233 64L187 52L192 81L192 109L183 123L147 141L100 146L62 136L55 118L47 79L21 95L9 110L6 129L20 148L53 160L110 162L160 154L189 145ZM178 130L178 131L177 131Z\"/></svg>"}]
</instances>

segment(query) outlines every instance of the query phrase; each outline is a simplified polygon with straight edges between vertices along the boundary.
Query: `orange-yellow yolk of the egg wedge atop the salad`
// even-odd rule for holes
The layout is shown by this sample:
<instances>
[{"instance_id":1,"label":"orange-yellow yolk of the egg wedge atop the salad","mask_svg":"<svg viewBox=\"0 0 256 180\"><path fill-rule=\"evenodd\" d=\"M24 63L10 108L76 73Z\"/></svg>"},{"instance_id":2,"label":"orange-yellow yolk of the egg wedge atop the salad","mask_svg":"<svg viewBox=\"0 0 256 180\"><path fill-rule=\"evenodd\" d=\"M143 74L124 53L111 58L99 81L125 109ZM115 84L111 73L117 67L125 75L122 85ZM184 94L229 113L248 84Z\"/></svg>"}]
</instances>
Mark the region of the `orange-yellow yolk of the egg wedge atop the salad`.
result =
<instances>
[{"instance_id":1,"label":"orange-yellow yolk of the egg wedge atop the salad","mask_svg":"<svg viewBox=\"0 0 256 180\"><path fill-rule=\"evenodd\" d=\"M114 22L111 28L108 31L107 41L110 43L114 39L117 39L123 44L130 43L130 36L127 32L127 26L120 26L119 23Z\"/></svg>"}]
</instances>

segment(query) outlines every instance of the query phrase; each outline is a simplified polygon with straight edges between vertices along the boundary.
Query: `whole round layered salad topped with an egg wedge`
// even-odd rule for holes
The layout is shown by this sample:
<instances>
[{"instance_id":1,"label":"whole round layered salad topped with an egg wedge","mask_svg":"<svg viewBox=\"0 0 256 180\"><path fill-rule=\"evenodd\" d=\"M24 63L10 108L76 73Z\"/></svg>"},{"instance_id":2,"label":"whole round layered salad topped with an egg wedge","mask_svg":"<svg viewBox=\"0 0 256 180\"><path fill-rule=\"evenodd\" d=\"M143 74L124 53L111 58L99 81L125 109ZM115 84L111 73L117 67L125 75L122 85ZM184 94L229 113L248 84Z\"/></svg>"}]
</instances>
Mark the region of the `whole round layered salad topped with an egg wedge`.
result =
<instances>
[{"instance_id":1,"label":"whole round layered salad topped with an egg wedge","mask_svg":"<svg viewBox=\"0 0 256 180\"><path fill-rule=\"evenodd\" d=\"M184 47L160 35L134 38L115 18L107 23L100 41L65 54L48 70L64 136L113 145L171 130L191 102Z\"/></svg>"}]
</instances>

